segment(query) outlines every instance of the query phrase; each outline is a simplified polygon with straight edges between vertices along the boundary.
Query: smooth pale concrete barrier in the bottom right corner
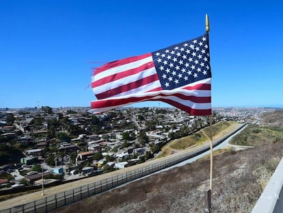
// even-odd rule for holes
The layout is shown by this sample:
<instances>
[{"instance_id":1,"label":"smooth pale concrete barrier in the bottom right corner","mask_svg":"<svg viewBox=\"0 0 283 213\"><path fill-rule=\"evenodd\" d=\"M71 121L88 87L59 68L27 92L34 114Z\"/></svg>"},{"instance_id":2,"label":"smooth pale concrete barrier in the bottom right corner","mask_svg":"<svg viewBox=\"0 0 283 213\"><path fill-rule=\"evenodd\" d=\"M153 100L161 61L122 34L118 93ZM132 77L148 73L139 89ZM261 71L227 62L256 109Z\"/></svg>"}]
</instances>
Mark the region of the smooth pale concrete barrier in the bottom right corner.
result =
<instances>
[{"instance_id":1,"label":"smooth pale concrete barrier in the bottom right corner","mask_svg":"<svg viewBox=\"0 0 283 213\"><path fill-rule=\"evenodd\" d=\"M283 212L283 158L256 202L252 213Z\"/></svg>"}]
</instances>

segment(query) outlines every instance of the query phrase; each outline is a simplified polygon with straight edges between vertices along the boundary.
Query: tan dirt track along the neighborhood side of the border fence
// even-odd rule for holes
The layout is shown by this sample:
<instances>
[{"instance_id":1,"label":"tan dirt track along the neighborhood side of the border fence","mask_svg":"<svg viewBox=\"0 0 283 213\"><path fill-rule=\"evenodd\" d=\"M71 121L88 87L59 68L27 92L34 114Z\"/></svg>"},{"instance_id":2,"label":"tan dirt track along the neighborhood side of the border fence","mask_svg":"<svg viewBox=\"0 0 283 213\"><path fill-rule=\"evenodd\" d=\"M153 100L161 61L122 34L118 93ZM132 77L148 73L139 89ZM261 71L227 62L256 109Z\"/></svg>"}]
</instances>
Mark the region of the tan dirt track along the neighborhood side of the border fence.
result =
<instances>
[{"instance_id":1,"label":"tan dirt track along the neighborhood side of the border fence","mask_svg":"<svg viewBox=\"0 0 283 213\"><path fill-rule=\"evenodd\" d=\"M232 131L233 129L236 129L238 126L239 125L234 125L233 127L230 128L230 131ZM227 131L226 133L228 133L228 132L229 131ZM221 136L224 136L224 134L219 134L219 138ZM218 135L217 135L217 137L215 137L215 139L217 139L217 138L218 138ZM172 155L169 155L169 156L166 156L166 157L163 157L163 158L150 160L148 162L144 162L142 164L137 164L135 166L126 167L126 168L123 168L123 169L120 169L120 170L117 170L117 171L113 171L111 173L105 173L103 175L88 177L88 178L85 178L85 179L79 179L77 181L72 181L72 182L67 183L67 184L62 184L62 185L59 185L59 186L53 186L51 188L46 188L46 189L44 189L44 196L43 197L55 195L59 192L72 190L73 188L77 188L79 186L84 186L84 185L87 185L87 184L94 183L96 181L100 181L102 179L107 179L109 177L113 177L113 176L116 176L116 175L120 175L122 173L126 173L128 171L133 171L135 169L143 168L143 167L148 166L150 164L157 163L161 160L165 160L165 158L168 158L168 159L174 158L176 155L180 155L182 153L187 153L187 152L195 150L197 148L200 148L200 146L191 147L191 149L185 149L183 151L178 151L178 153L174 153ZM8 199L6 201L1 201L0 202L0 210L12 208L16 205L23 205L25 203L30 203L30 202L32 202L36 199L41 199L42 198L41 192L42 191L39 190L38 192L32 192L32 193L29 193L27 195L21 195L21 196L18 196L18 197L14 197L12 199Z\"/></svg>"}]
</instances>

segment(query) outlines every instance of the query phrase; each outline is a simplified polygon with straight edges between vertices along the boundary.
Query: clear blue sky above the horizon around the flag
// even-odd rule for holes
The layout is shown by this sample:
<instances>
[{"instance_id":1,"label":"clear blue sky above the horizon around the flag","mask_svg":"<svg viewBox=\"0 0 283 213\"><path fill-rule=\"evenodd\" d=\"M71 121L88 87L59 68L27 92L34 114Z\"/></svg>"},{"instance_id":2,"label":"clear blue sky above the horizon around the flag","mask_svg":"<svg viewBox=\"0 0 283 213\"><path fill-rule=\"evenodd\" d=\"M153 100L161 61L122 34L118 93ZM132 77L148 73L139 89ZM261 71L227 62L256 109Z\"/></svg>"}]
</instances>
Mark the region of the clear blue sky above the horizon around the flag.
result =
<instances>
[{"instance_id":1,"label":"clear blue sky above the horizon around the flag","mask_svg":"<svg viewBox=\"0 0 283 213\"><path fill-rule=\"evenodd\" d=\"M283 107L282 11L279 0L0 1L0 108L90 106L92 62L200 36L206 13L213 107Z\"/></svg>"}]
</instances>

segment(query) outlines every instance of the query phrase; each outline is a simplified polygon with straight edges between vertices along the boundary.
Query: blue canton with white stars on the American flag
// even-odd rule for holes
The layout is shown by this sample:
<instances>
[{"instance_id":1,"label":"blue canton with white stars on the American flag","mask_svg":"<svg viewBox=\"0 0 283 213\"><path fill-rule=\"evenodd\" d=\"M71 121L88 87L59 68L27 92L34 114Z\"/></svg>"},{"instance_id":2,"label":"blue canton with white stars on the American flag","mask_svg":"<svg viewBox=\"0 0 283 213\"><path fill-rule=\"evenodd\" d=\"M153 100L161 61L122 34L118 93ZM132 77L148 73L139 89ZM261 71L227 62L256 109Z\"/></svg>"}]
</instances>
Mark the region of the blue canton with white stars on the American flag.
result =
<instances>
[{"instance_id":1,"label":"blue canton with white stars on the American flag","mask_svg":"<svg viewBox=\"0 0 283 213\"><path fill-rule=\"evenodd\" d=\"M211 77L208 34L152 52L163 90Z\"/></svg>"}]
</instances>

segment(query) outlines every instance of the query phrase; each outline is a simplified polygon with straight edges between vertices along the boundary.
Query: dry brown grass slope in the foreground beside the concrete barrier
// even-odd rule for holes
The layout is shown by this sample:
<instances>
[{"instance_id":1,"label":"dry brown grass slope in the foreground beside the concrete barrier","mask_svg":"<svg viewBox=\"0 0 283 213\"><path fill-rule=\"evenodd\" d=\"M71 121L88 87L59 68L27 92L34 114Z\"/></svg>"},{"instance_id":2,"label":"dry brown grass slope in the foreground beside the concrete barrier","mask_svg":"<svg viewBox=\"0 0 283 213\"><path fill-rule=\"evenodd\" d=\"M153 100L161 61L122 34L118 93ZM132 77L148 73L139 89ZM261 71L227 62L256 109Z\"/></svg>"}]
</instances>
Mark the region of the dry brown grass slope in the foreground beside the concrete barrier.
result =
<instances>
[{"instance_id":1,"label":"dry brown grass slope in the foreground beside the concrete barrier","mask_svg":"<svg viewBox=\"0 0 283 213\"><path fill-rule=\"evenodd\" d=\"M213 212L250 212L283 154L283 141L214 158ZM152 175L55 212L204 212L209 160Z\"/></svg>"}]
</instances>

